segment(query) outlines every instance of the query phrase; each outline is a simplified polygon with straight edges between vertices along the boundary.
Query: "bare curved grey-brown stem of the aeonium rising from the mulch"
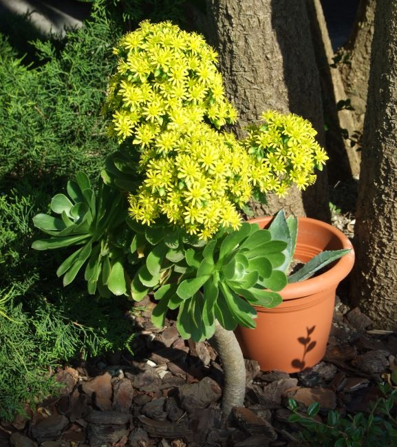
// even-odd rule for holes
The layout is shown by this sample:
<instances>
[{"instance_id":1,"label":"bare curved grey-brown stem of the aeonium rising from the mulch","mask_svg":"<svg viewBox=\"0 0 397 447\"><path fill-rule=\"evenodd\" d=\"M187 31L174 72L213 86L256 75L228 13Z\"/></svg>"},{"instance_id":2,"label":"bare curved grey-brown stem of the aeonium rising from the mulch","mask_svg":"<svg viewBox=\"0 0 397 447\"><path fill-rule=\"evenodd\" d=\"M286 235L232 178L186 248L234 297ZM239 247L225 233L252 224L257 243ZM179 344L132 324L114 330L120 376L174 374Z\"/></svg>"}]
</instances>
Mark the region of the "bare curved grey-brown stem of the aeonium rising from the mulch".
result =
<instances>
[{"instance_id":1,"label":"bare curved grey-brown stem of the aeonium rising from the mulch","mask_svg":"<svg viewBox=\"0 0 397 447\"><path fill-rule=\"evenodd\" d=\"M246 394L244 357L234 332L226 331L219 322L215 322L215 333L209 342L222 362L225 380L222 410L228 416L233 406L244 405Z\"/></svg>"}]
</instances>

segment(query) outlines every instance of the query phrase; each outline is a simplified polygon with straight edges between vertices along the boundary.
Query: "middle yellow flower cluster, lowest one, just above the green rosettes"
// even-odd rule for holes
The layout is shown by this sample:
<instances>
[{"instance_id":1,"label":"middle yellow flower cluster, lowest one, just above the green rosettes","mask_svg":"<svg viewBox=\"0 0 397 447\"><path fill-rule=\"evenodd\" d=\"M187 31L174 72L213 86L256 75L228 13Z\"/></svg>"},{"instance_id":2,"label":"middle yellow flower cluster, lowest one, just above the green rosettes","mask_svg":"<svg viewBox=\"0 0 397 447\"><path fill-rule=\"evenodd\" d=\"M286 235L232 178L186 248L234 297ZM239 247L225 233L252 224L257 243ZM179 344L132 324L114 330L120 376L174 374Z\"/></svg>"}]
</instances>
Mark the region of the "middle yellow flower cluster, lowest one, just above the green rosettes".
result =
<instances>
[{"instance_id":1,"label":"middle yellow flower cluster, lowest one, just above the green rosettes","mask_svg":"<svg viewBox=\"0 0 397 447\"><path fill-rule=\"evenodd\" d=\"M161 215L207 240L222 225L237 229L242 206L253 194L253 159L231 134L206 123L163 132L140 158L144 181L130 194L129 212L151 225Z\"/></svg>"}]
</instances>

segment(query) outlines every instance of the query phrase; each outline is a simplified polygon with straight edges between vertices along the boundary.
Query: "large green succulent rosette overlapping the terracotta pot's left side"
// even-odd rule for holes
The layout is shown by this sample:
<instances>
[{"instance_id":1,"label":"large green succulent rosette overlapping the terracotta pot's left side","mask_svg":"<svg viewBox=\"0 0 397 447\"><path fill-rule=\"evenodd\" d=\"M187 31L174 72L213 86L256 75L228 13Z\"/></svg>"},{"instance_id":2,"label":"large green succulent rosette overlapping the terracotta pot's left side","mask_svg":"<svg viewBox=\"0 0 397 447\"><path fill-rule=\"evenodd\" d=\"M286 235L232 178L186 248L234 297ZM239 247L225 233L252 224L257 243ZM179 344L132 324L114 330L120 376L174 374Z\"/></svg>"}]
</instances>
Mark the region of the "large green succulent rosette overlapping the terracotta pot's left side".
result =
<instances>
[{"instance_id":1,"label":"large green succulent rosette overlapping the terracotta pot's left side","mask_svg":"<svg viewBox=\"0 0 397 447\"><path fill-rule=\"evenodd\" d=\"M277 267L285 259L282 251L287 242L272 240L270 231L258 225L243 223L239 230L203 247L186 245L183 257L172 267L165 247L164 241L155 245L151 253L159 256L147 257L131 286L133 298L139 299L150 284L160 282L162 271L168 269L167 276L177 278L154 293L159 301L152 314L156 326L164 326L167 309L179 309L178 331L183 338L199 342L213 336L216 320L228 331L237 324L253 328L256 311L251 304L272 307L281 302L276 291L286 286L287 278ZM162 269L164 259L167 267ZM183 273L175 276L175 272Z\"/></svg>"}]
</instances>

